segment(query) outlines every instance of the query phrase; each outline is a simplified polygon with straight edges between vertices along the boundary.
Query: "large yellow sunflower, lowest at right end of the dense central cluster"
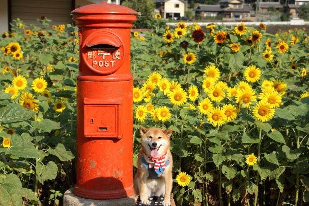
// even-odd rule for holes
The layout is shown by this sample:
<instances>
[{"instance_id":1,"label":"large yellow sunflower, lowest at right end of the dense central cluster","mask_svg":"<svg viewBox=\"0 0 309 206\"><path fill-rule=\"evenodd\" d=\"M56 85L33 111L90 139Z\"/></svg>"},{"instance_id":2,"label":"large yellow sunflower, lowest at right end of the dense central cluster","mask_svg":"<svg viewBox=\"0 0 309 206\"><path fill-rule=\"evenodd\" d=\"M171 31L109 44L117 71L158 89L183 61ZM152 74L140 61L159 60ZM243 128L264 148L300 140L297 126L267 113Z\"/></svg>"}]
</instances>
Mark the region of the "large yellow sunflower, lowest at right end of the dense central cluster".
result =
<instances>
[{"instance_id":1,"label":"large yellow sunflower, lowest at right end of the dense central cluster","mask_svg":"<svg viewBox=\"0 0 309 206\"><path fill-rule=\"evenodd\" d=\"M270 103L262 100L254 106L252 113L257 120L266 122L274 117L275 110Z\"/></svg>"}]
</instances>

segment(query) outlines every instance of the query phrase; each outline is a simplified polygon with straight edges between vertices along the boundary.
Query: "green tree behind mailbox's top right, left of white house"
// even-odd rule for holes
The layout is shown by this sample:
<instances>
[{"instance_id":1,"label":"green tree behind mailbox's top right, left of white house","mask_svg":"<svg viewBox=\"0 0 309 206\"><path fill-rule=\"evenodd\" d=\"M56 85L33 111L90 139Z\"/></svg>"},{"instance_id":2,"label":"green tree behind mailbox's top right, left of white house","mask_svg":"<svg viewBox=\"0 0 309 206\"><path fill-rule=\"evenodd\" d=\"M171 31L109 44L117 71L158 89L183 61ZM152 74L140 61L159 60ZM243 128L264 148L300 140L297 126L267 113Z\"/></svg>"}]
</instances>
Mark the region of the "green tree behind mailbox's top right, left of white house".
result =
<instances>
[{"instance_id":1,"label":"green tree behind mailbox's top right, left of white house","mask_svg":"<svg viewBox=\"0 0 309 206\"><path fill-rule=\"evenodd\" d=\"M138 12L136 28L147 28L153 20L153 10L155 5L152 0L125 0L122 5L132 8Z\"/></svg>"}]
</instances>

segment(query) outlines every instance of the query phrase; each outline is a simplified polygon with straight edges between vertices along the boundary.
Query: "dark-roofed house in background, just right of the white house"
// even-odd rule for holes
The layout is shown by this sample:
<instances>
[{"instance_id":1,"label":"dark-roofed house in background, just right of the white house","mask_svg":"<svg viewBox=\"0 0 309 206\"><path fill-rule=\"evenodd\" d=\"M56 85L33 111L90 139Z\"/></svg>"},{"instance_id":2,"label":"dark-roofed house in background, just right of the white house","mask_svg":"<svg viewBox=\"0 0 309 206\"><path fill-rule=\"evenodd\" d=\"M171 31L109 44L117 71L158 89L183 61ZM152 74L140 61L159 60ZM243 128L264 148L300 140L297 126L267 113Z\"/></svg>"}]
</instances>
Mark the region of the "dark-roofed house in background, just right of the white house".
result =
<instances>
[{"instance_id":1,"label":"dark-roofed house in background, just right of the white house","mask_svg":"<svg viewBox=\"0 0 309 206\"><path fill-rule=\"evenodd\" d=\"M218 5L200 4L195 10L201 18L221 16L223 20L250 19L252 9L242 0L221 0Z\"/></svg>"}]
</instances>

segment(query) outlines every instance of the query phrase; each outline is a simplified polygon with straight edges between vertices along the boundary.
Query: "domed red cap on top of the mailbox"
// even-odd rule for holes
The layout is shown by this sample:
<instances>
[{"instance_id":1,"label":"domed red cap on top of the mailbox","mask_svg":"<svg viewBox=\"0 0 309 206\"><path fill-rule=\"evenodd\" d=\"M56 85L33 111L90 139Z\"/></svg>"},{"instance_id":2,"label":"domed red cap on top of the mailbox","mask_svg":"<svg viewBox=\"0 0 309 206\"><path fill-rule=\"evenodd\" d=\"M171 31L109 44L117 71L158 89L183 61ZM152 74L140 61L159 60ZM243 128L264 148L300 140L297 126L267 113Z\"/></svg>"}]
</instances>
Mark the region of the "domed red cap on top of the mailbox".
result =
<instances>
[{"instance_id":1,"label":"domed red cap on top of the mailbox","mask_svg":"<svg viewBox=\"0 0 309 206\"><path fill-rule=\"evenodd\" d=\"M97 3L97 4L90 4L86 6L82 6L77 8L71 12L72 14L114 14L114 15L134 15L136 16L137 12L131 8L106 3Z\"/></svg>"}]
</instances>

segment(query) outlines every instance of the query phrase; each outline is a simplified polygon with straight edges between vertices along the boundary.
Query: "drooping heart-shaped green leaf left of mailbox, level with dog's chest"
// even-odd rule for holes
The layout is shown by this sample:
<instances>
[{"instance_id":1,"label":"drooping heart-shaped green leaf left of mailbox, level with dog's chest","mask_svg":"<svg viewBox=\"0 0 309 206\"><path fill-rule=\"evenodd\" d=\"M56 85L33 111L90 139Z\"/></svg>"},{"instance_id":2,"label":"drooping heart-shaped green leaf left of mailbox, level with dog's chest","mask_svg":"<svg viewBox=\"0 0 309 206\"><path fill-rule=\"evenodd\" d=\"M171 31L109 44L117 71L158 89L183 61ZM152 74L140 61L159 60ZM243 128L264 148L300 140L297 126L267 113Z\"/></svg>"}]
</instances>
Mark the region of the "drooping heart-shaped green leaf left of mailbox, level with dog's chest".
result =
<instances>
[{"instance_id":1,"label":"drooping heart-shaped green leaf left of mailbox, level with dog's chest","mask_svg":"<svg viewBox=\"0 0 309 206\"><path fill-rule=\"evenodd\" d=\"M42 162L38 162L35 166L37 180L44 184L46 180L53 180L57 176L58 167L53 161L44 165Z\"/></svg>"}]
</instances>

